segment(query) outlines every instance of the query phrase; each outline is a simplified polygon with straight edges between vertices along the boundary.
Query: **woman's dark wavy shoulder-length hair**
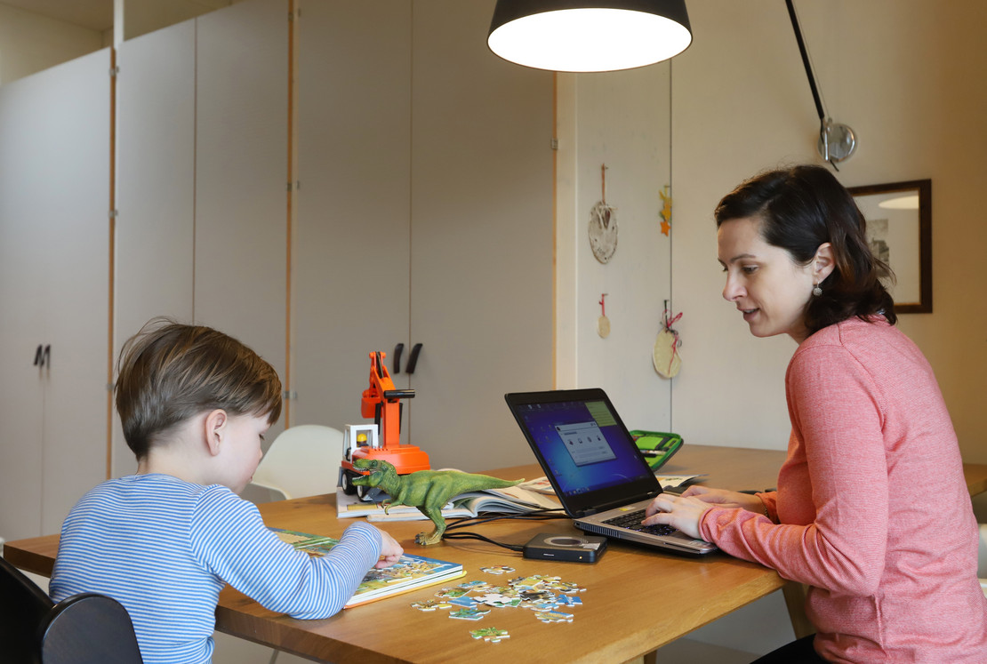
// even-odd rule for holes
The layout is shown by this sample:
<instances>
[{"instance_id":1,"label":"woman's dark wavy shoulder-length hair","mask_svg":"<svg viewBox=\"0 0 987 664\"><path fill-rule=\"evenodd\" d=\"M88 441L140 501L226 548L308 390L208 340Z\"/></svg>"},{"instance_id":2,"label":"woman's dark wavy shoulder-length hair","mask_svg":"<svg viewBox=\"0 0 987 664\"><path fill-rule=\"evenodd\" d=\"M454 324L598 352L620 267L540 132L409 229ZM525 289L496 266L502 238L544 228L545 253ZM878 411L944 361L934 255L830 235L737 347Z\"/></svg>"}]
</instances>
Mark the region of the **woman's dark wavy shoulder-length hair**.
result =
<instances>
[{"instance_id":1,"label":"woman's dark wavy shoulder-length hair","mask_svg":"<svg viewBox=\"0 0 987 664\"><path fill-rule=\"evenodd\" d=\"M820 245L832 245L833 271L819 284L822 295L805 305L810 334L854 316L867 321L879 314L897 322L894 301L880 282L894 275L873 256L867 222L853 195L828 170L796 166L740 184L717 206L717 228L745 217L758 218L764 241L786 250L799 265L808 264Z\"/></svg>"}]
</instances>

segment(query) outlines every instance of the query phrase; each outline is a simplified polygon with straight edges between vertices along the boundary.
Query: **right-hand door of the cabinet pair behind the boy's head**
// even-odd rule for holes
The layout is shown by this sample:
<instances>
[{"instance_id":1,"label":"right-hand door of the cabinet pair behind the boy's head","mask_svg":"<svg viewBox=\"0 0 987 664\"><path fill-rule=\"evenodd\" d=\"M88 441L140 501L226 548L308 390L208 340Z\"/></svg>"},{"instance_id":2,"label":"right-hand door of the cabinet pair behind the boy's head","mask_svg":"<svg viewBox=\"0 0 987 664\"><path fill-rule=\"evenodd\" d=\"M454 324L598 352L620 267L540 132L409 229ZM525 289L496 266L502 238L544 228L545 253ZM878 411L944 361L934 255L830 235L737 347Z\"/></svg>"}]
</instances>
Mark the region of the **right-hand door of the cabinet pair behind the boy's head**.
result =
<instances>
[{"instance_id":1,"label":"right-hand door of the cabinet pair behind the boy's head","mask_svg":"<svg viewBox=\"0 0 987 664\"><path fill-rule=\"evenodd\" d=\"M288 3L247 0L195 22L193 315L249 345L283 377Z\"/></svg>"}]
</instances>

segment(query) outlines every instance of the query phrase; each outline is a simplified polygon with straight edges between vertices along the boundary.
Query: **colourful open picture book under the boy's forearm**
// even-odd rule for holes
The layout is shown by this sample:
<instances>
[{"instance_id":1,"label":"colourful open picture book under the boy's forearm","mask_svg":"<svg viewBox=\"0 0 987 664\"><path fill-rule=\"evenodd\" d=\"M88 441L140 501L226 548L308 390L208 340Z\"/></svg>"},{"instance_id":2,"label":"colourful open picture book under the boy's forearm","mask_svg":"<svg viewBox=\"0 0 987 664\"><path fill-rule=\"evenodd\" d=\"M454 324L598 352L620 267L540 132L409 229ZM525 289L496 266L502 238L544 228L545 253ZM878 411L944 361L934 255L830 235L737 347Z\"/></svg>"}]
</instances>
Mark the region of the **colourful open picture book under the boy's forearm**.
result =
<instances>
[{"instance_id":1,"label":"colourful open picture book under the boy's forearm","mask_svg":"<svg viewBox=\"0 0 987 664\"><path fill-rule=\"evenodd\" d=\"M284 542L309 555L326 555L340 543L338 539L332 537L298 533L281 528L270 530ZM356 588L356 592L342 608L358 607L385 597L459 578L465 574L466 570L459 563L405 553L400 560L389 567L368 571Z\"/></svg>"}]
</instances>

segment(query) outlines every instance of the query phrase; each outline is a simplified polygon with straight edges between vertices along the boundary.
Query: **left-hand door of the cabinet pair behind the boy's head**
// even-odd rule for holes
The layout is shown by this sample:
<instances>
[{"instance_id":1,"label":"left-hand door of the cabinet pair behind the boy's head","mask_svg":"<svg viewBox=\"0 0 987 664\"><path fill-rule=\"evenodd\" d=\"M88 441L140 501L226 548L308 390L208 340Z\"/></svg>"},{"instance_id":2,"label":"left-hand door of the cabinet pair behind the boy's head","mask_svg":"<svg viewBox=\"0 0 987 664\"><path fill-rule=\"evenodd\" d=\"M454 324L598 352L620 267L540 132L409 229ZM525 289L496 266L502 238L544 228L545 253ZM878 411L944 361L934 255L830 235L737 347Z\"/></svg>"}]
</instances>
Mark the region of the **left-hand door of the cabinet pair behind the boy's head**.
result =
<instances>
[{"instance_id":1,"label":"left-hand door of the cabinet pair behind the boy's head","mask_svg":"<svg viewBox=\"0 0 987 664\"><path fill-rule=\"evenodd\" d=\"M150 319L192 320L194 20L124 41L116 64L114 360ZM113 476L135 469L114 409Z\"/></svg>"}]
</instances>

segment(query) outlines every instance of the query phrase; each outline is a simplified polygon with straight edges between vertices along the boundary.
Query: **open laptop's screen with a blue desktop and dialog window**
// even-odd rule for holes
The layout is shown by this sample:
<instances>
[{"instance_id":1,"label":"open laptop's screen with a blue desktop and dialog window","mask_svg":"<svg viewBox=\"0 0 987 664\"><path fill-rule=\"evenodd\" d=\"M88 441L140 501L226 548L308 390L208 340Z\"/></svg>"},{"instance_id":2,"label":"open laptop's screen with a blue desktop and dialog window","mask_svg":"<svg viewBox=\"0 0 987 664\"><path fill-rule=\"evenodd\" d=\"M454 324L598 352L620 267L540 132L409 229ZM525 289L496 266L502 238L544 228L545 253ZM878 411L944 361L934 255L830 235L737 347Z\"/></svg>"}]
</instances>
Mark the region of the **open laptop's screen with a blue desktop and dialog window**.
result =
<instances>
[{"instance_id":1,"label":"open laptop's screen with a blue desktop and dialog window","mask_svg":"<svg viewBox=\"0 0 987 664\"><path fill-rule=\"evenodd\" d=\"M506 400L570 512L660 492L602 390L510 394Z\"/></svg>"}]
</instances>

